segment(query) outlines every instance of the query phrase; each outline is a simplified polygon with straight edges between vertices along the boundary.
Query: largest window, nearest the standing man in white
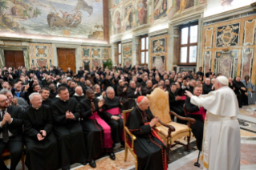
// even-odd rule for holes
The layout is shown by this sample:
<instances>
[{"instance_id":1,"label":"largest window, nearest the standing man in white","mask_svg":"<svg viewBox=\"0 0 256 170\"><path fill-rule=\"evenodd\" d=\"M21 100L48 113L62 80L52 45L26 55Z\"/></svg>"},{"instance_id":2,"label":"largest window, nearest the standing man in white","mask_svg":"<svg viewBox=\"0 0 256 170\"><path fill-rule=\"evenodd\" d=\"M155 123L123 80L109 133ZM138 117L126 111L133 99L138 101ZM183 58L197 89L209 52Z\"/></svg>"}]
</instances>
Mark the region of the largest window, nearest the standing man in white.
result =
<instances>
[{"instance_id":1,"label":"largest window, nearest the standing man in white","mask_svg":"<svg viewBox=\"0 0 256 170\"><path fill-rule=\"evenodd\" d=\"M197 64L197 22L180 27L179 65Z\"/></svg>"}]
</instances>

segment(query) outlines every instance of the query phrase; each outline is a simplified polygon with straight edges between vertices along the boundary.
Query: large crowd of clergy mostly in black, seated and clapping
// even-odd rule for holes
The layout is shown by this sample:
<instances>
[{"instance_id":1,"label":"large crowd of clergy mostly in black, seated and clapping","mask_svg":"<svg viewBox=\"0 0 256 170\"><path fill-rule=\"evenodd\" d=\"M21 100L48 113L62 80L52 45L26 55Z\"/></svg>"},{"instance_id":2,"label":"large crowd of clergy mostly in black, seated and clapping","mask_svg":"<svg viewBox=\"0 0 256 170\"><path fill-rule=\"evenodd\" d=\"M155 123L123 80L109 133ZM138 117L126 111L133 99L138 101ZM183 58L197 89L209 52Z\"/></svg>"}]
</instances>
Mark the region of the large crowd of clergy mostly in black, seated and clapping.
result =
<instances>
[{"instance_id":1,"label":"large crowd of clergy mostly in black, seated and clapping","mask_svg":"<svg viewBox=\"0 0 256 170\"><path fill-rule=\"evenodd\" d=\"M68 68L3 67L0 71L0 155L10 152L14 170L26 146L30 170L70 169L71 164L89 164L104 154L115 160L124 147L122 111L134 108L126 126L137 137L138 169L166 169L162 157L165 144L151 129L159 121L150 111L148 99L156 87L169 91L169 108L196 119L191 128L202 148L206 110L190 102L185 91L207 95L214 91L214 72L158 71L148 67ZM229 79L239 107L255 104L255 86L250 77ZM140 97L139 100L137 98ZM187 114L185 114L184 106ZM149 107L149 108L148 108ZM172 117L172 119L174 119ZM177 119L177 123L186 124ZM0 169L9 169L0 159Z\"/></svg>"}]
</instances>

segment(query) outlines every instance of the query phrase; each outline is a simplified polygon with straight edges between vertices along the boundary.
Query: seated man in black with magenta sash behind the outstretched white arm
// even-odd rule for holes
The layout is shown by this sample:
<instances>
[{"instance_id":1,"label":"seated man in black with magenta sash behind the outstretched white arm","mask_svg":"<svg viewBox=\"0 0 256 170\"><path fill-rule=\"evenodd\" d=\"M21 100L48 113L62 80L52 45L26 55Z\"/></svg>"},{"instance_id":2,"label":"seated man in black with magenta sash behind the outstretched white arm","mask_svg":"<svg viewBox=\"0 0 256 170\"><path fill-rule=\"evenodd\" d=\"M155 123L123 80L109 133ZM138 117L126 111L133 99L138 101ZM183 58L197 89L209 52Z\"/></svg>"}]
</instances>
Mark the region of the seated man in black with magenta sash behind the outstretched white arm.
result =
<instances>
[{"instance_id":1,"label":"seated man in black with magenta sash behind the outstretched white arm","mask_svg":"<svg viewBox=\"0 0 256 170\"><path fill-rule=\"evenodd\" d=\"M208 78L206 78L208 79ZM202 94L202 87L201 85L196 85L193 88L193 95L199 96ZM191 129L193 132L193 136L197 139L197 148L201 151L201 146L203 142L203 135L204 135L204 122L205 122L205 115L206 111L204 107L197 107L190 103L190 98L187 97L185 100L185 107L187 111L187 116L196 119L196 123L191 124Z\"/></svg>"}]
</instances>

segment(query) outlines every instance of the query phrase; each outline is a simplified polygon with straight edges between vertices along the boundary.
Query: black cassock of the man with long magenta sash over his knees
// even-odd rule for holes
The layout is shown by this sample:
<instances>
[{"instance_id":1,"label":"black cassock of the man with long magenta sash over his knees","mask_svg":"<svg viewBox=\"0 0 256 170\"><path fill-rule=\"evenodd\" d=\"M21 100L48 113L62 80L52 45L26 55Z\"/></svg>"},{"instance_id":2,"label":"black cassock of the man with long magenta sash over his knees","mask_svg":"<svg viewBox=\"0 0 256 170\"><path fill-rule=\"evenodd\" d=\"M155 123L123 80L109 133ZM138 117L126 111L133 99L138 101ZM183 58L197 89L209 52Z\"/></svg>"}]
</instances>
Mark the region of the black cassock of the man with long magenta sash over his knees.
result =
<instances>
[{"instance_id":1,"label":"black cassock of the man with long magenta sash over his knees","mask_svg":"<svg viewBox=\"0 0 256 170\"><path fill-rule=\"evenodd\" d=\"M98 107L99 99L94 99L95 112L101 115ZM112 140L108 144L108 148L105 148L104 144L104 129L102 125L96 119L89 119L91 117L91 101L83 99L79 103L81 110L81 125L83 127L83 135L85 139L85 146L87 148L88 161L94 160L103 152L112 152ZM103 120L104 121L104 120Z\"/></svg>"}]
</instances>

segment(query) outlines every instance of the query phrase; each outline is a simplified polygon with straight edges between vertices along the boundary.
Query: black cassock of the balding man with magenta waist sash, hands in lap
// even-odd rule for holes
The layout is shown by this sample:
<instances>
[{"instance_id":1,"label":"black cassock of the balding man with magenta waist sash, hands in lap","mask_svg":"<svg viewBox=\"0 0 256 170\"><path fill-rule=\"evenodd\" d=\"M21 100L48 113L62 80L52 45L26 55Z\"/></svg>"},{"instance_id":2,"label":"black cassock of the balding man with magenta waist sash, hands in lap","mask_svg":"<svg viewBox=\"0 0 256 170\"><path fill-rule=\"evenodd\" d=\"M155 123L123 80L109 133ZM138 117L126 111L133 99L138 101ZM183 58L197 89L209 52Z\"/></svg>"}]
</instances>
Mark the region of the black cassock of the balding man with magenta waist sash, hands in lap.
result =
<instances>
[{"instance_id":1,"label":"black cassock of the balding man with magenta waist sash, hands in lap","mask_svg":"<svg viewBox=\"0 0 256 170\"><path fill-rule=\"evenodd\" d=\"M112 134L112 140L114 144L118 144L122 141L122 132L124 129L124 123L123 119L121 118L122 116L120 115L120 112L116 112L116 116L119 116L120 119L117 121L115 119L111 119L112 114L109 113L111 109L113 108L119 108L120 109L120 99L119 97L114 97L114 99L109 99L106 97L104 99L104 106L103 108L103 114L102 118L108 123L108 125L111 127L111 134Z\"/></svg>"}]
</instances>

